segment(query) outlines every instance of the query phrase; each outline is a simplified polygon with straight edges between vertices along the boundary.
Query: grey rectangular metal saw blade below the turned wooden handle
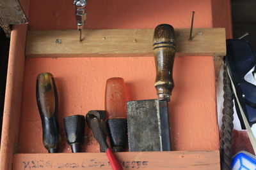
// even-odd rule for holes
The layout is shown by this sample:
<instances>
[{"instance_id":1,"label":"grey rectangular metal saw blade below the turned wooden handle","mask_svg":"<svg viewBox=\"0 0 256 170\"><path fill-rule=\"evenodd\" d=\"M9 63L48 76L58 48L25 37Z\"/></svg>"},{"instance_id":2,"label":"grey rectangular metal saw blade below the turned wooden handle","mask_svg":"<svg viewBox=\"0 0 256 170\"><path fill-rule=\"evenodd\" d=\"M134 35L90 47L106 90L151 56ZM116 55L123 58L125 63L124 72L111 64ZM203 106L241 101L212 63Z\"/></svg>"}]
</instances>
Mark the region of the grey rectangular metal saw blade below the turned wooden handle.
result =
<instances>
[{"instance_id":1,"label":"grey rectangular metal saw blade below the turned wooden handle","mask_svg":"<svg viewBox=\"0 0 256 170\"><path fill-rule=\"evenodd\" d=\"M170 150L167 101L128 101L127 125L130 152Z\"/></svg>"}]
</instances>

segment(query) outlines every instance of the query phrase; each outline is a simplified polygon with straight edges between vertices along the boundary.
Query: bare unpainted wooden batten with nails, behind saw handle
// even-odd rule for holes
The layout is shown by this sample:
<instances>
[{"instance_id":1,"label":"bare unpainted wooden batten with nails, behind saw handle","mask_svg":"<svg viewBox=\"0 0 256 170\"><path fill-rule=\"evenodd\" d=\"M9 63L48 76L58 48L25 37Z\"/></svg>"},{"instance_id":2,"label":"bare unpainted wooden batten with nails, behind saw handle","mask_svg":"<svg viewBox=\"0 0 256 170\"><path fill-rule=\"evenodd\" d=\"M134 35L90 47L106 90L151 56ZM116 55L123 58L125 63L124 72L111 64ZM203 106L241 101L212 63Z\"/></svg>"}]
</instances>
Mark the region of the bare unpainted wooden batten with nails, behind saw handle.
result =
<instances>
[{"instance_id":1,"label":"bare unpainted wooden batten with nails, behind saw handle","mask_svg":"<svg viewBox=\"0 0 256 170\"><path fill-rule=\"evenodd\" d=\"M223 56L226 53L224 28L175 29L177 56ZM153 56L154 29L88 29L79 42L76 30L28 31L27 57L141 57ZM60 39L61 43L56 43Z\"/></svg>"}]
</instances>

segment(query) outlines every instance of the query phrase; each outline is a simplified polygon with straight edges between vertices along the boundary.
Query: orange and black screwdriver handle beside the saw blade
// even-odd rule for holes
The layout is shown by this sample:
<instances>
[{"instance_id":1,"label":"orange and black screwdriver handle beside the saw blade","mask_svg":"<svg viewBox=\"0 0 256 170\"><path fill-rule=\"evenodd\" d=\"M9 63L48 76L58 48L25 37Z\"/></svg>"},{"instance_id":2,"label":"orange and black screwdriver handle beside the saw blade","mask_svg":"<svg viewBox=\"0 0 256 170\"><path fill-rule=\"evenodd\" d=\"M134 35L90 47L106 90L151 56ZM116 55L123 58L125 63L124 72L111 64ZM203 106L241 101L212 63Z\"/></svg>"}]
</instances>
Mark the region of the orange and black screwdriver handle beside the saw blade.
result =
<instances>
[{"instance_id":1,"label":"orange and black screwdriver handle beside the saw blade","mask_svg":"<svg viewBox=\"0 0 256 170\"><path fill-rule=\"evenodd\" d=\"M109 139L114 152L122 152L127 143L127 113L124 79L109 78L106 82L105 108L108 113Z\"/></svg>"}]
</instances>

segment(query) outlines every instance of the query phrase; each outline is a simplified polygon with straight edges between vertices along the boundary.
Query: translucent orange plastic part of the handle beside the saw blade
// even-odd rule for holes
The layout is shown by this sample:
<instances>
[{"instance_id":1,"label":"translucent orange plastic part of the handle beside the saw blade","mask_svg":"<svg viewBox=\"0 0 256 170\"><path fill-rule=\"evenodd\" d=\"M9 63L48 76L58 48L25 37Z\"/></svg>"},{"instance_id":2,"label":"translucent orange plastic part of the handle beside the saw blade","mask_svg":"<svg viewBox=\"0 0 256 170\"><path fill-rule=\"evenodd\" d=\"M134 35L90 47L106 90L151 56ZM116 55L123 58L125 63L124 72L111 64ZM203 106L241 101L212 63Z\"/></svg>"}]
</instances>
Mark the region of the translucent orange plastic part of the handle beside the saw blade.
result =
<instances>
[{"instance_id":1,"label":"translucent orange plastic part of the handle beside the saw blade","mask_svg":"<svg viewBox=\"0 0 256 170\"><path fill-rule=\"evenodd\" d=\"M124 79L109 78L106 83L105 109L108 118L127 118Z\"/></svg>"}]
</instances>

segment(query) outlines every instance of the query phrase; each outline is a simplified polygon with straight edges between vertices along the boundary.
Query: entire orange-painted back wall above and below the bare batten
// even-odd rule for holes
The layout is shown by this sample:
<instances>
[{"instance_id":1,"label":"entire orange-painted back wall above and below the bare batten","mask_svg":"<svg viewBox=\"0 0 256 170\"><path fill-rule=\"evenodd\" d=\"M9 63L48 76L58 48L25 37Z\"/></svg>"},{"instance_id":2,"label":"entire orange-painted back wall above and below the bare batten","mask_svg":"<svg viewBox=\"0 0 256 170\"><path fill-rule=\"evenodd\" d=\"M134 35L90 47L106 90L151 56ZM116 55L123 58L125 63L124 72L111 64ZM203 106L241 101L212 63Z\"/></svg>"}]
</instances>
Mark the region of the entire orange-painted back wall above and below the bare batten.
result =
<instances>
[{"instance_id":1,"label":"entire orange-painted back wall above and below the bare batten","mask_svg":"<svg viewBox=\"0 0 256 170\"><path fill-rule=\"evenodd\" d=\"M154 28L163 23L189 27L191 11L196 11L194 27L212 27L210 0L88 0L86 28ZM72 1L33 0L29 21L29 28L33 30L76 29ZM78 35L77 32L77 39ZM70 152L67 150L62 118L73 114L84 115L89 110L103 110L108 78L124 78L131 100L157 97L152 57L27 58L20 119L20 153L46 152L42 145L42 127L35 99L36 75L45 71L55 76L60 96L61 152ZM173 77L175 87L169 103L173 150L218 150L212 57L177 57ZM99 152L92 134L88 130L86 134L88 139L84 151Z\"/></svg>"}]
</instances>

